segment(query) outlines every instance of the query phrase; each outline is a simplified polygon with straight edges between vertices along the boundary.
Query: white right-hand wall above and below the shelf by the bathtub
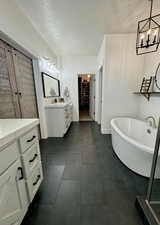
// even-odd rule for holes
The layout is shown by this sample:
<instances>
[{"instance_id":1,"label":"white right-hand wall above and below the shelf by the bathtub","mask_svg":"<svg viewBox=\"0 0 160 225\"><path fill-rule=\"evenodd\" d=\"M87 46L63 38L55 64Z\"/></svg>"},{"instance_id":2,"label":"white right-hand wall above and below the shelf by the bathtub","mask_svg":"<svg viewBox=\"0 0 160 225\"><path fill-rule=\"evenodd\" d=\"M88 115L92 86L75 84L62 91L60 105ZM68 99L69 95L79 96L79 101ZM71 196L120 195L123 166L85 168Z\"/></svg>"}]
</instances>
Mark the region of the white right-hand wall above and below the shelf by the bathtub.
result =
<instances>
[{"instance_id":1,"label":"white right-hand wall above and below the shelf by the bathtub","mask_svg":"<svg viewBox=\"0 0 160 225\"><path fill-rule=\"evenodd\" d=\"M156 72L156 68L158 64L160 63L160 50L155 53L146 54L143 57L144 57L143 76L146 76L146 77L154 76ZM143 96L140 97L140 105L139 105L140 118L144 119L145 117L150 115L154 116L158 123L158 119L160 117L160 97L159 96L151 96L149 101L145 99Z\"/></svg>"}]
</instances>

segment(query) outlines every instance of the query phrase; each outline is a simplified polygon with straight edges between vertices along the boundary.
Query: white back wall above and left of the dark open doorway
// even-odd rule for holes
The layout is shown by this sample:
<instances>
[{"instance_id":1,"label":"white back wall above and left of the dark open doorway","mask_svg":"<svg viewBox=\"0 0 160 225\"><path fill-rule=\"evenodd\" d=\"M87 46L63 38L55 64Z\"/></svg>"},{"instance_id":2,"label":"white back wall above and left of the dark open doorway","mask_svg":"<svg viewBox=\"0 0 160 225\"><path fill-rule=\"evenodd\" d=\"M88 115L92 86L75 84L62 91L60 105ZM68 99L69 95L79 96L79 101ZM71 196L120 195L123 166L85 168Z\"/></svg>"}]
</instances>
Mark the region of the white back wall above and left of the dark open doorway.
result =
<instances>
[{"instance_id":1,"label":"white back wall above and left of the dark open doorway","mask_svg":"<svg viewBox=\"0 0 160 225\"><path fill-rule=\"evenodd\" d=\"M63 56L62 57L62 82L67 86L73 102L73 120L79 120L78 109L78 74L96 74L96 56ZM63 91L62 91L63 94Z\"/></svg>"}]
</instances>

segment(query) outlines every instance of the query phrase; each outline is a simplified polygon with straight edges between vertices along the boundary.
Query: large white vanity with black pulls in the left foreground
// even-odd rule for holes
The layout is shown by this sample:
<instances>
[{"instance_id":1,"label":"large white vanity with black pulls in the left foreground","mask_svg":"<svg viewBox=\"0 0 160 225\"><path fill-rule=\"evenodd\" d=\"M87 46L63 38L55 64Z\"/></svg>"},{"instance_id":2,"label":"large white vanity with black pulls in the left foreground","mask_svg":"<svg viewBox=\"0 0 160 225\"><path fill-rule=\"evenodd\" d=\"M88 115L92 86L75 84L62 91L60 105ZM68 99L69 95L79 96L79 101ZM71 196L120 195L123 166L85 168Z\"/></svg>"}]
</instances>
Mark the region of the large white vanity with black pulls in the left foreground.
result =
<instances>
[{"instance_id":1,"label":"large white vanity with black pulls in the left foreground","mask_svg":"<svg viewBox=\"0 0 160 225\"><path fill-rule=\"evenodd\" d=\"M38 120L13 120L0 120L0 225L21 224L43 179Z\"/></svg>"}]
</instances>

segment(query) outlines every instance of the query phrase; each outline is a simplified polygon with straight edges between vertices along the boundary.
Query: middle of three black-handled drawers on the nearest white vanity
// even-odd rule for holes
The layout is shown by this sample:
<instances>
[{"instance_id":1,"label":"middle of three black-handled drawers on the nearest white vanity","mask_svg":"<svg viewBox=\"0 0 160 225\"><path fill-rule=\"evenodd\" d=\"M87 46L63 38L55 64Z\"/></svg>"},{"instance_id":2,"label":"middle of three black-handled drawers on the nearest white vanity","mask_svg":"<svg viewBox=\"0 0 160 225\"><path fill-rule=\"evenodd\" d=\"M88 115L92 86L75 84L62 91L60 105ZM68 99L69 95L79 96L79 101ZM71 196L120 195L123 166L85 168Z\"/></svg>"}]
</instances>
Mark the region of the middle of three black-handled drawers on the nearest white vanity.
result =
<instances>
[{"instance_id":1,"label":"middle of three black-handled drawers on the nearest white vanity","mask_svg":"<svg viewBox=\"0 0 160 225\"><path fill-rule=\"evenodd\" d=\"M41 162L38 140L23 154L22 160L25 168L25 175L28 177L37 164Z\"/></svg>"}]
</instances>

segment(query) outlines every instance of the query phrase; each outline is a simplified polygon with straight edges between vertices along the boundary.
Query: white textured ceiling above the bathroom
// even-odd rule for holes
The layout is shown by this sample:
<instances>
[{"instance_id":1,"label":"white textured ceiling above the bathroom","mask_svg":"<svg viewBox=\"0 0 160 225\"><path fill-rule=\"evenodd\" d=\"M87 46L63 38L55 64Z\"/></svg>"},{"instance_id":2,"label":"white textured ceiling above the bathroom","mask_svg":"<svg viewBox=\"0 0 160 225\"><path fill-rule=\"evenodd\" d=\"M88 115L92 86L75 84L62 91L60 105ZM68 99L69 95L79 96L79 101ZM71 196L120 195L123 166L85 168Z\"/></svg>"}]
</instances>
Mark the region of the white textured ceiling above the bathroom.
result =
<instances>
[{"instance_id":1,"label":"white textured ceiling above the bathroom","mask_svg":"<svg viewBox=\"0 0 160 225\"><path fill-rule=\"evenodd\" d=\"M104 34L136 32L148 0L14 0L61 55L96 55ZM154 11L160 9L155 0Z\"/></svg>"}]
</instances>

